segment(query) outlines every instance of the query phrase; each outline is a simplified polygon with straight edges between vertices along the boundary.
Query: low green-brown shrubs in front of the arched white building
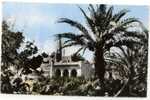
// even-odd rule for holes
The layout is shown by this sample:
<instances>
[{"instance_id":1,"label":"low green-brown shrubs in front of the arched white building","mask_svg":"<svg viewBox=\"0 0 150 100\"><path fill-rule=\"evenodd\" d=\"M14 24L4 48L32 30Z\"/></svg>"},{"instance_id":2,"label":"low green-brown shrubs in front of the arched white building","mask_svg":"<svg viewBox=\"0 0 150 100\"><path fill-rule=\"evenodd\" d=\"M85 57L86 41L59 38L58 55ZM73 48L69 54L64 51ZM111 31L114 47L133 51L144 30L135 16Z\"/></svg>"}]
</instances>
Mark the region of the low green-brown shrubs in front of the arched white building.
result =
<instances>
[{"instance_id":1,"label":"low green-brown shrubs in front of the arched white building","mask_svg":"<svg viewBox=\"0 0 150 100\"><path fill-rule=\"evenodd\" d=\"M37 94L49 94L49 95L99 95L96 94L97 90L94 88L96 80L85 80L84 78L51 78L49 81L37 82L34 84L33 92L38 92ZM36 90L38 89L38 90ZM39 91L39 89L41 91Z\"/></svg>"}]
</instances>

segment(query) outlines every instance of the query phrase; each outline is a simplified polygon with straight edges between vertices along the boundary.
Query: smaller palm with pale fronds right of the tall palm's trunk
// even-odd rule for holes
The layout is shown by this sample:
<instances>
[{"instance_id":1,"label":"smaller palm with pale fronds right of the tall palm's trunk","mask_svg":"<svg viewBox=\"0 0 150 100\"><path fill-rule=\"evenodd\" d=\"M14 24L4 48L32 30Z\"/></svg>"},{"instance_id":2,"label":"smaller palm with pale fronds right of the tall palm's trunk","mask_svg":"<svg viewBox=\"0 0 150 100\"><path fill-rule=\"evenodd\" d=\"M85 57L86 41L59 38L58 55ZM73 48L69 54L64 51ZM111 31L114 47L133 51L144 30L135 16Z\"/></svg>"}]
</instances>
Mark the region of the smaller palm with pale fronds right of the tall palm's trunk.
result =
<instances>
[{"instance_id":1,"label":"smaller palm with pale fronds right of the tall palm's trunk","mask_svg":"<svg viewBox=\"0 0 150 100\"><path fill-rule=\"evenodd\" d=\"M136 57L135 51L122 46L120 46L119 48L122 52L111 52L111 56L109 56L109 54L105 60L108 63L116 64L116 66L118 66L119 69L121 69L120 67L122 67L123 70L119 70L120 73L126 73L124 74L125 77L123 79L124 85L114 96L119 96L120 94L124 96L131 96L131 85L133 85L135 82L135 80L133 79L136 76L135 70L138 63L138 59Z\"/></svg>"}]
</instances>

